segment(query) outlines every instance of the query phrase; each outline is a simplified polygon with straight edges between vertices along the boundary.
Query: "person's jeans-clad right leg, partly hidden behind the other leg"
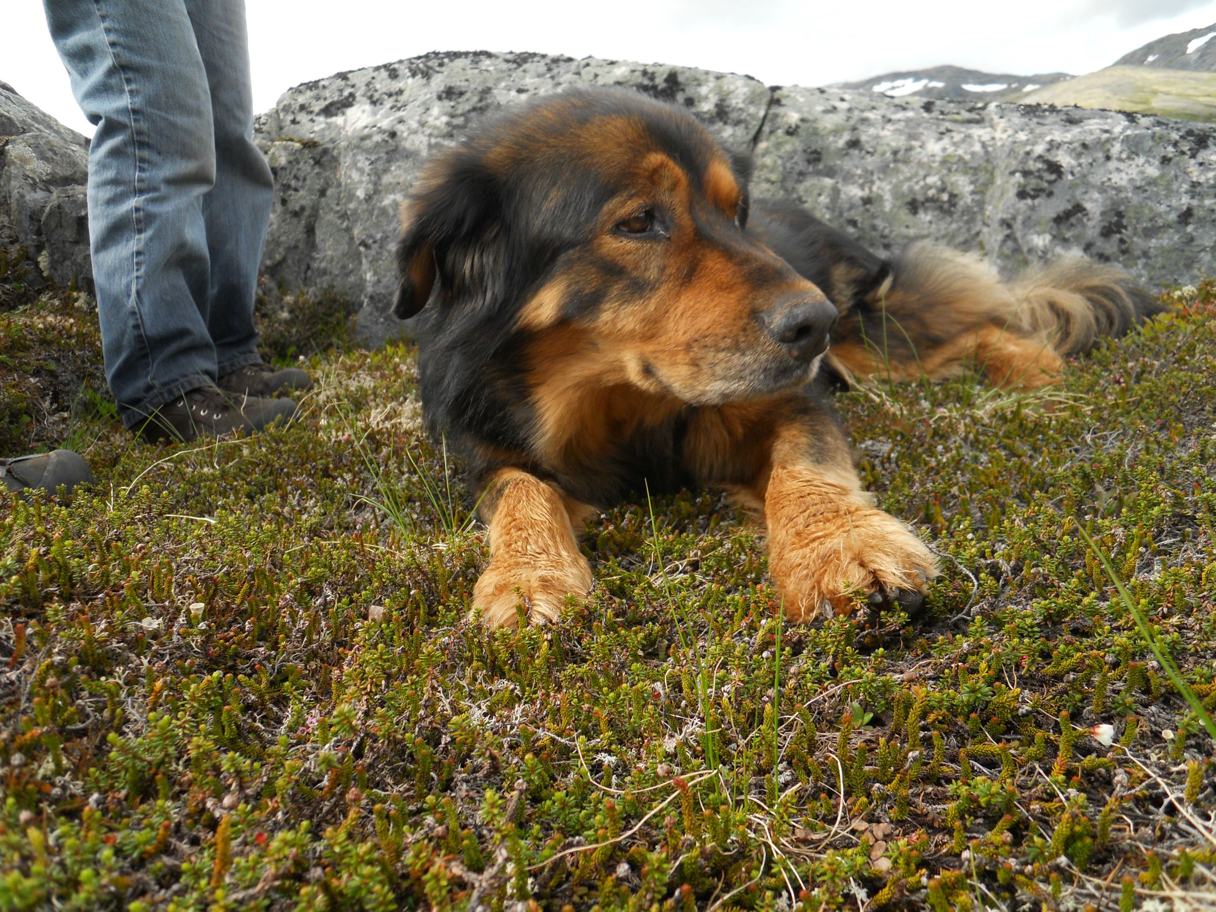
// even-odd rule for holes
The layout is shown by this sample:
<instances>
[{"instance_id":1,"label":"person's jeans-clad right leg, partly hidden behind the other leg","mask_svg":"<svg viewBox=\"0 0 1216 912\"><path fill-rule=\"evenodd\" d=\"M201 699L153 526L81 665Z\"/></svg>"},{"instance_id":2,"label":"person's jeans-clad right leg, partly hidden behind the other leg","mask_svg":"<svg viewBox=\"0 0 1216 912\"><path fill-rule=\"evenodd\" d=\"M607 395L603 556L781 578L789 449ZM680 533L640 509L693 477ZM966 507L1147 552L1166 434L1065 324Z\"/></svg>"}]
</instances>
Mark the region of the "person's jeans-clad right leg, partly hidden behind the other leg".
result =
<instances>
[{"instance_id":1,"label":"person's jeans-clad right leg, partly hidden behind the other leg","mask_svg":"<svg viewBox=\"0 0 1216 912\"><path fill-rule=\"evenodd\" d=\"M203 198L210 255L207 326L219 375L259 364L253 299L275 191L253 145L244 0L185 0L207 69L215 135L215 186Z\"/></svg>"}]
</instances>

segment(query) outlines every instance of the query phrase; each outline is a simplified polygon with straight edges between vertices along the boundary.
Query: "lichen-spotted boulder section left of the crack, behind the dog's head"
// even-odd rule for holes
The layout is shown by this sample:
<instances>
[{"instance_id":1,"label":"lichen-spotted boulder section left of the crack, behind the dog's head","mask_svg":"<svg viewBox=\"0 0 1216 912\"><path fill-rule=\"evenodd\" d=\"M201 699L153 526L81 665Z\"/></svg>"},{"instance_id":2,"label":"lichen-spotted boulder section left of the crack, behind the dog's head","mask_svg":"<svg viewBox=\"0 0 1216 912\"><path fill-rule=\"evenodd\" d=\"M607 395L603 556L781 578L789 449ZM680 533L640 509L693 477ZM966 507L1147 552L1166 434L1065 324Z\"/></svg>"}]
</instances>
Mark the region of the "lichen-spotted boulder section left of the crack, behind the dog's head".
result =
<instances>
[{"instance_id":1,"label":"lichen-spotted boulder section left of the crack, behind the dog's head","mask_svg":"<svg viewBox=\"0 0 1216 912\"><path fill-rule=\"evenodd\" d=\"M575 85L617 85L687 107L724 142L749 148L769 106L750 77L536 54L429 54L292 89L257 135L277 192L264 270L361 305L356 336L402 332L389 313L399 210L427 156L502 105Z\"/></svg>"}]
</instances>

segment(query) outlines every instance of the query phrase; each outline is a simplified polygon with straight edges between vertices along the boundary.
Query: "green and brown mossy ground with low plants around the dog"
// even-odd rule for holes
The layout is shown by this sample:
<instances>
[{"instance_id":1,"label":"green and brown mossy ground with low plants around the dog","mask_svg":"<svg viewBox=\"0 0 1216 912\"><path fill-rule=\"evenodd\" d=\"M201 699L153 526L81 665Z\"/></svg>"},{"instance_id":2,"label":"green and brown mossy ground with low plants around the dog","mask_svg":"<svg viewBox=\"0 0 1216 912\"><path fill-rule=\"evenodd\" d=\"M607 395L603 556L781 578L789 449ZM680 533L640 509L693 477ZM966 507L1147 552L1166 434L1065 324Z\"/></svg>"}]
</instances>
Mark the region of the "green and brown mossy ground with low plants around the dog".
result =
<instances>
[{"instance_id":1,"label":"green and brown mossy ground with low plants around the dog","mask_svg":"<svg viewBox=\"0 0 1216 912\"><path fill-rule=\"evenodd\" d=\"M1171 300L1048 394L840 398L942 553L869 630L779 623L756 528L689 491L593 523L561 624L486 634L406 347L313 356L252 439L81 412L98 484L0 502L0 907L1211 907L1216 747L1070 525L1216 709L1216 283ZM73 306L0 308L22 370Z\"/></svg>"}]
</instances>

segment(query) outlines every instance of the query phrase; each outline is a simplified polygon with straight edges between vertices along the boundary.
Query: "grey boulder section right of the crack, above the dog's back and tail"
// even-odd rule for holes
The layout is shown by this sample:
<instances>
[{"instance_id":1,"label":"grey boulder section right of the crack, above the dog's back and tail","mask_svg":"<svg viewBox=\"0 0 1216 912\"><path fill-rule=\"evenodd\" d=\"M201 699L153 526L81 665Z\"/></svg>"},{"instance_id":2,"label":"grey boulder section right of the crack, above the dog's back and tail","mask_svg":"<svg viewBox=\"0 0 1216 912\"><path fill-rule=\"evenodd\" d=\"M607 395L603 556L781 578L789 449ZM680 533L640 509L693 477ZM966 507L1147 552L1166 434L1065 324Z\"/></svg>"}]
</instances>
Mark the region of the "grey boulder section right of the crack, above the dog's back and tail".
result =
<instances>
[{"instance_id":1,"label":"grey boulder section right of the crack, above the dog's back and tail","mask_svg":"<svg viewBox=\"0 0 1216 912\"><path fill-rule=\"evenodd\" d=\"M1216 269L1216 129L1105 111L778 89L756 192L799 199L866 243L917 237L1006 269L1058 253L1150 282Z\"/></svg>"}]
</instances>

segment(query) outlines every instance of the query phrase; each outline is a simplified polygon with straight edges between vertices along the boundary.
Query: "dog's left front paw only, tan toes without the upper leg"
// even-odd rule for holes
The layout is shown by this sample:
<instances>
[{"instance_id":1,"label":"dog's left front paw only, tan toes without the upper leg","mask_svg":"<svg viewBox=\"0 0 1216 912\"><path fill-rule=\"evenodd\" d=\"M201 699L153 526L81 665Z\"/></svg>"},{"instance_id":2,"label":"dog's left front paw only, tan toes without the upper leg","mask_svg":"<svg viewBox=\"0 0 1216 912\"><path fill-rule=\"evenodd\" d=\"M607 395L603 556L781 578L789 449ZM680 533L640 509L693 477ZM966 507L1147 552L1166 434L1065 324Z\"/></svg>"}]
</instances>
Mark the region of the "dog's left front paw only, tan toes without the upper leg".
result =
<instances>
[{"instance_id":1,"label":"dog's left front paw only, tan toes without the upper leg","mask_svg":"<svg viewBox=\"0 0 1216 912\"><path fill-rule=\"evenodd\" d=\"M516 626L520 604L528 620L545 624L557 620L567 596L582 598L590 589L591 567L581 557L563 562L496 556L473 586L473 608L491 630Z\"/></svg>"}]
</instances>

